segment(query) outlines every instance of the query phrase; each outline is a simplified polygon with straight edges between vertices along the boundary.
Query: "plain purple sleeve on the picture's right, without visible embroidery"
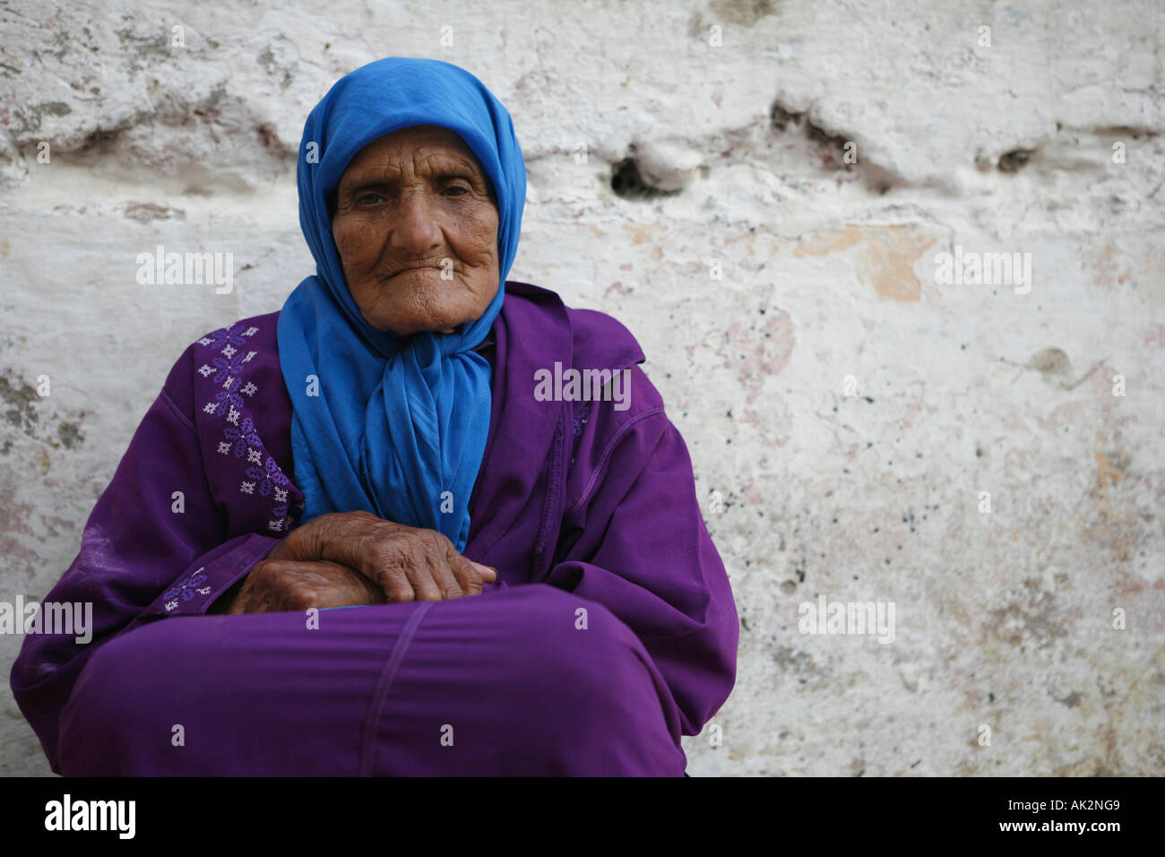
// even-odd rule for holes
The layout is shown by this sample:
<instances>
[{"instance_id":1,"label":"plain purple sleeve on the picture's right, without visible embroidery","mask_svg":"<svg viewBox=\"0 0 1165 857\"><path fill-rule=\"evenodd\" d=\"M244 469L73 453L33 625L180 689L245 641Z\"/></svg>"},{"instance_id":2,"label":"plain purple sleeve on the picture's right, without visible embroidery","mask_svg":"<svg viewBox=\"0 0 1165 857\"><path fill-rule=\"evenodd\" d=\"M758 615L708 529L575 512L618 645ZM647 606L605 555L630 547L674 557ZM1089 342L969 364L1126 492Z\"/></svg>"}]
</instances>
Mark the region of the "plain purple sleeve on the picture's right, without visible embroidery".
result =
<instances>
[{"instance_id":1,"label":"plain purple sleeve on the picture's right, without visible embroidery","mask_svg":"<svg viewBox=\"0 0 1165 857\"><path fill-rule=\"evenodd\" d=\"M636 633L683 733L699 735L735 683L736 605L687 447L647 375L630 371L636 408L592 402L576 417L560 560L548 582L599 602Z\"/></svg>"}]
</instances>

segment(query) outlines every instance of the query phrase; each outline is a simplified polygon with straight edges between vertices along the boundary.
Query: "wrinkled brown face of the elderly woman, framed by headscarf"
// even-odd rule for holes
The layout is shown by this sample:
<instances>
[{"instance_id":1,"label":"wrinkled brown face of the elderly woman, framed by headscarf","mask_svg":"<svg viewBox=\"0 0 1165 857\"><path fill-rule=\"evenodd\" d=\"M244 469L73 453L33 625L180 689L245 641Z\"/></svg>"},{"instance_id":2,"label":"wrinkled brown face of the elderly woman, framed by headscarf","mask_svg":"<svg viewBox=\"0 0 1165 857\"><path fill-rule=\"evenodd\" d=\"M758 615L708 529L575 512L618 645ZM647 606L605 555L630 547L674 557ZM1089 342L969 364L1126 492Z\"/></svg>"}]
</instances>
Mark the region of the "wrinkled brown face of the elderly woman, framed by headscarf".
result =
<instances>
[{"instance_id":1,"label":"wrinkled brown face of the elderly woman, framed by headscarf","mask_svg":"<svg viewBox=\"0 0 1165 857\"><path fill-rule=\"evenodd\" d=\"M497 205L457 132L402 128L365 146L336 194L332 238L377 330L452 332L497 294Z\"/></svg>"}]
</instances>

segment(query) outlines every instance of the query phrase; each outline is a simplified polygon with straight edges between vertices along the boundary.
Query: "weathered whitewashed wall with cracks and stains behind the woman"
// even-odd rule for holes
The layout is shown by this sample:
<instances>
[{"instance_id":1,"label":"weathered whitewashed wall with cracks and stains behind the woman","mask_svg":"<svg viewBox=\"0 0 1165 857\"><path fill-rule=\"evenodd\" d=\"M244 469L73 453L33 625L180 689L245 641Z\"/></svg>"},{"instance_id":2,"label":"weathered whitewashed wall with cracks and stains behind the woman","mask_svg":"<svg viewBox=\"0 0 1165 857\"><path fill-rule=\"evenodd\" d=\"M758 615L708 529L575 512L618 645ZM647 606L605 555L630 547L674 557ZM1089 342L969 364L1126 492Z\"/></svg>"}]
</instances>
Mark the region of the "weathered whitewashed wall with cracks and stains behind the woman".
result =
<instances>
[{"instance_id":1,"label":"weathered whitewashed wall with cracks and stains behind the woman","mask_svg":"<svg viewBox=\"0 0 1165 857\"><path fill-rule=\"evenodd\" d=\"M514 115L511 275L626 322L689 441L742 617L693 774L1165 773L1160 3L273 6L0 2L0 599L72 560L182 347L310 273L311 106L430 56ZM157 244L233 291L139 286ZM800 633L819 595L894 641ZM0 747L47 771L10 698Z\"/></svg>"}]
</instances>

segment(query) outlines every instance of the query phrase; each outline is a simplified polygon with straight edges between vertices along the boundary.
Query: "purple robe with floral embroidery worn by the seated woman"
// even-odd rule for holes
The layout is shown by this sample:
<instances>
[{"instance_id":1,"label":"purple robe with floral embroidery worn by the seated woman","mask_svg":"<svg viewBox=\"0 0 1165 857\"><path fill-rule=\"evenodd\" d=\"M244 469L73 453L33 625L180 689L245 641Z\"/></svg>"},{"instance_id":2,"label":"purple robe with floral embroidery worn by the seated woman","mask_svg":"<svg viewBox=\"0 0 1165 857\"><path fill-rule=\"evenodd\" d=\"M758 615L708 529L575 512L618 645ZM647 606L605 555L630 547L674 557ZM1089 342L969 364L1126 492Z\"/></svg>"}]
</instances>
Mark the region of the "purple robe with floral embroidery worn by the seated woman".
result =
<instances>
[{"instance_id":1,"label":"purple robe with floral embroidery worn by the seated woman","mask_svg":"<svg viewBox=\"0 0 1165 857\"><path fill-rule=\"evenodd\" d=\"M57 773L684 772L732 691L739 626L692 465L601 312L507 282L465 555L480 596L206 614L296 526L277 312L178 359L49 603L92 641L30 634L12 670ZM627 368L630 407L539 401L538 370ZM181 503L176 492L182 492Z\"/></svg>"}]
</instances>

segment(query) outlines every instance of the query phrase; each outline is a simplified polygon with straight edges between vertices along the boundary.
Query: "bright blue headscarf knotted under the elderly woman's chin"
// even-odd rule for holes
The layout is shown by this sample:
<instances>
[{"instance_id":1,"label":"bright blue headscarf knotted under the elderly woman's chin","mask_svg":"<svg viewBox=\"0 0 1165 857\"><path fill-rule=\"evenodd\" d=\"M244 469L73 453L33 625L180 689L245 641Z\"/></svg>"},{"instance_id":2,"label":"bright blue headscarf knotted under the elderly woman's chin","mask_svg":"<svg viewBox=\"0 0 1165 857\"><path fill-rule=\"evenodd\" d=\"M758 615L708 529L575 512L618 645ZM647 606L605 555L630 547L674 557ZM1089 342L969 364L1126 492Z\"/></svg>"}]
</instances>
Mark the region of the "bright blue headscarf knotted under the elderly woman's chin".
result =
<instances>
[{"instance_id":1,"label":"bright blue headscarf knotted under the elderly woman's chin","mask_svg":"<svg viewBox=\"0 0 1165 857\"><path fill-rule=\"evenodd\" d=\"M348 293L332 240L329 195L373 140L415 125L457 132L497 201L497 294L457 332L400 337L373 328ZM295 480L306 521L365 510L436 529L464 550L469 494L489 433L489 364L472 349L504 300L525 203L525 162L502 104L468 71L389 57L336 83L304 125L299 226L316 258L278 319L280 366L291 396ZM443 511L444 508L444 511Z\"/></svg>"}]
</instances>

